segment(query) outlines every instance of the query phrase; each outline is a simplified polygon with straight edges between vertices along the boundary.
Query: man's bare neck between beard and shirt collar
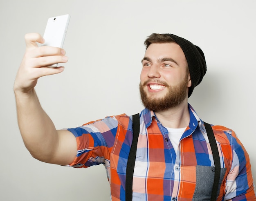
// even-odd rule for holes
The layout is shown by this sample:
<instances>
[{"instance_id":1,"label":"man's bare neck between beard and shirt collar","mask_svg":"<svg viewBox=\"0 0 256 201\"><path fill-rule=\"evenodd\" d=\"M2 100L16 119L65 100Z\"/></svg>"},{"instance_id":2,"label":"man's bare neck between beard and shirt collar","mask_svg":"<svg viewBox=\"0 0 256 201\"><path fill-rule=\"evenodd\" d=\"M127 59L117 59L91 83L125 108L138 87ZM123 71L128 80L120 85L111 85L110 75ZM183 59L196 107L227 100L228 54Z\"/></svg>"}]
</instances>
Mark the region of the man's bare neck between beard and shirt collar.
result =
<instances>
[{"instance_id":1,"label":"man's bare neck between beard and shirt collar","mask_svg":"<svg viewBox=\"0 0 256 201\"><path fill-rule=\"evenodd\" d=\"M174 108L163 111L155 111L157 119L164 127L184 128L189 125L189 108L187 99Z\"/></svg>"}]
</instances>

